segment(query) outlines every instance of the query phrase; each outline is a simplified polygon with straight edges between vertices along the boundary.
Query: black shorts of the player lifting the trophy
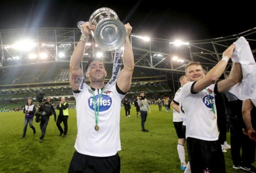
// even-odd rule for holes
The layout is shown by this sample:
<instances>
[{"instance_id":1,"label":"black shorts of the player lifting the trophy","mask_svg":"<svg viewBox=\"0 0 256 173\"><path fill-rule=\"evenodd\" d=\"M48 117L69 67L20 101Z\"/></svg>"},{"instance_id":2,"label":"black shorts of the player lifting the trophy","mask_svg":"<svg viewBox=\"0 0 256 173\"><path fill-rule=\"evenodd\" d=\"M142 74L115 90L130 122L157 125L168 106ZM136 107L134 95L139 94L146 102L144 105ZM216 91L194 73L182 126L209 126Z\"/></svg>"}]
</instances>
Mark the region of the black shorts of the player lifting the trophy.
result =
<instances>
[{"instance_id":1,"label":"black shorts of the player lifting the trophy","mask_svg":"<svg viewBox=\"0 0 256 173\"><path fill-rule=\"evenodd\" d=\"M120 173L118 153L109 157L88 156L74 152L69 166L69 173Z\"/></svg>"}]
</instances>

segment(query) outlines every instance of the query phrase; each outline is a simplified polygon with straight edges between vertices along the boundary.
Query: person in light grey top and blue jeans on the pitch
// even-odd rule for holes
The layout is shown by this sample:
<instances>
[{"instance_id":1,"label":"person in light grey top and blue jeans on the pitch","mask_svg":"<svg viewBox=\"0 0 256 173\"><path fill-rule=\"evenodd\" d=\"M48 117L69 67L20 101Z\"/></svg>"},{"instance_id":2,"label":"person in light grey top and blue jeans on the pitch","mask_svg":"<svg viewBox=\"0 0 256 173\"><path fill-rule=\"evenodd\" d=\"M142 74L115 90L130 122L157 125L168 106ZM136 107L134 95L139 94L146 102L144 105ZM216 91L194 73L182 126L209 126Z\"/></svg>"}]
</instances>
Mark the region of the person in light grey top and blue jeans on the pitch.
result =
<instances>
[{"instance_id":1,"label":"person in light grey top and blue jeans on the pitch","mask_svg":"<svg viewBox=\"0 0 256 173\"><path fill-rule=\"evenodd\" d=\"M148 101L145 98L145 92L141 92L139 99L138 99L138 105L141 112L141 131L143 132L149 132L149 130L145 129L145 122L147 120L148 112L151 113L150 107L148 105ZM148 109L148 112L147 112Z\"/></svg>"}]
</instances>

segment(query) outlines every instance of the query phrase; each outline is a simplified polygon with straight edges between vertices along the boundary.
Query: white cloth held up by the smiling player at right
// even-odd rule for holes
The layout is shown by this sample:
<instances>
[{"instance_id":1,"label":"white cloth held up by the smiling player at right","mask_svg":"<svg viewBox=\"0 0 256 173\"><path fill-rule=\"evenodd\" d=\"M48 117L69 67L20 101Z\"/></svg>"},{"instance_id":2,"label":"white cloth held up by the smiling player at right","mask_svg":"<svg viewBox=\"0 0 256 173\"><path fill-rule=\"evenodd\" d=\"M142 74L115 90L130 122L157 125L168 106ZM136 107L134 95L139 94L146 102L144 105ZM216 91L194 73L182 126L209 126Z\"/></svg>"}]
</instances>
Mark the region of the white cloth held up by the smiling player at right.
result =
<instances>
[{"instance_id":1,"label":"white cloth held up by the smiling player at right","mask_svg":"<svg viewBox=\"0 0 256 173\"><path fill-rule=\"evenodd\" d=\"M249 42L244 37L240 37L234 44L236 48L232 61L241 64L243 80L231 87L229 92L240 100L256 99L256 63Z\"/></svg>"}]
</instances>

